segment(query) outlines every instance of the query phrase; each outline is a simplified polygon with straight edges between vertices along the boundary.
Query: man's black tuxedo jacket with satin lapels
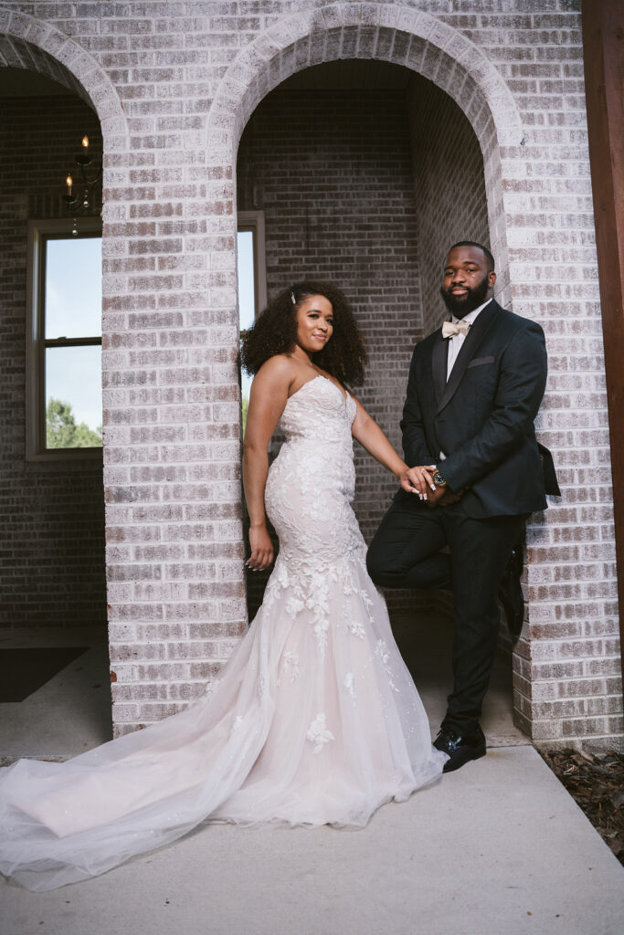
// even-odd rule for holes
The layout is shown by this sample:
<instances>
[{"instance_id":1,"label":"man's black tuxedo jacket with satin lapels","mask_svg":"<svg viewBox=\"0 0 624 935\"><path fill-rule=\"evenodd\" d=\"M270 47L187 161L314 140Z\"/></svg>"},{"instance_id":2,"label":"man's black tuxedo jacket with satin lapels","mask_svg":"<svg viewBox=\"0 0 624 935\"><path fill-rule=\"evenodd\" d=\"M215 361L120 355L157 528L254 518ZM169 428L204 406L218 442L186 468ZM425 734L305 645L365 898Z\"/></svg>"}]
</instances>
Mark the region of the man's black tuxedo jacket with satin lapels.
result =
<instances>
[{"instance_id":1,"label":"man's black tuxedo jacket with satin lapels","mask_svg":"<svg viewBox=\"0 0 624 935\"><path fill-rule=\"evenodd\" d=\"M437 464L452 491L465 491L462 504L475 519L544 510L533 427L546 382L542 328L491 301L448 381L447 352L442 328L414 349L401 420L406 462Z\"/></svg>"}]
</instances>

